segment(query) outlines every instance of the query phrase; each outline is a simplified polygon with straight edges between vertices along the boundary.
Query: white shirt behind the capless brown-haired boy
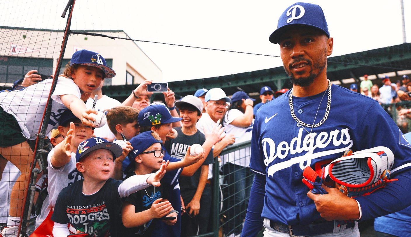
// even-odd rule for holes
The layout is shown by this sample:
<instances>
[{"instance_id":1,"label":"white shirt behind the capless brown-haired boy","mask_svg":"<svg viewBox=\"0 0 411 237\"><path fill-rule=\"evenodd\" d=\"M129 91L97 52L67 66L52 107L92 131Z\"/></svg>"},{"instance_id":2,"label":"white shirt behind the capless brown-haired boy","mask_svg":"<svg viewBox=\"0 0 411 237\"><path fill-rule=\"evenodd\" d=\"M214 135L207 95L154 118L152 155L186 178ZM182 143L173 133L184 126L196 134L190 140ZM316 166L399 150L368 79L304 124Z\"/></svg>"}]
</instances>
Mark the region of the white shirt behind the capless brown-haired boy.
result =
<instances>
[{"instance_id":1,"label":"white shirt behind the capless brown-haired boy","mask_svg":"<svg viewBox=\"0 0 411 237\"><path fill-rule=\"evenodd\" d=\"M87 108L91 108L93 105L93 101L94 99L92 98L88 98L87 99L87 103L85 103L85 107ZM100 98L99 100L97 100L96 105L95 105L95 110L104 112L104 110L106 109L111 109L117 106L120 106L121 103L120 101L110 98L109 96L103 95L102 98ZM113 139L115 138L113 132L111 132L108 123L106 123L103 127L101 128L95 128L94 129L94 135L96 137L104 137L104 138L108 138L108 139Z\"/></svg>"}]
</instances>

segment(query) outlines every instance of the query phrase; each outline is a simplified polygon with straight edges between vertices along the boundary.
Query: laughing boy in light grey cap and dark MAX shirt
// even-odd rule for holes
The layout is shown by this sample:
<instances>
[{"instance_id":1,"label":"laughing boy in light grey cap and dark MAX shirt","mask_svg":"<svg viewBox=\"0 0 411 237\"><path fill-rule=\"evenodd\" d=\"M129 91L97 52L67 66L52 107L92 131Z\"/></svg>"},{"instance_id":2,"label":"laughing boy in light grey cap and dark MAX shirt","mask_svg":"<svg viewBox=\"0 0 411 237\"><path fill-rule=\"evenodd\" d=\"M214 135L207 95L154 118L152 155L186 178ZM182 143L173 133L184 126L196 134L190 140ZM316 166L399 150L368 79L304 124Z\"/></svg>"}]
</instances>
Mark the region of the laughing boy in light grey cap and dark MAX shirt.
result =
<instances>
[{"instance_id":1,"label":"laughing boy in light grey cap and dark MAX shirt","mask_svg":"<svg viewBox=\"0 0 411 237\"><path fill-rule=\"evenodd\" d=\"M211 185L207 182L208 165L214 163L212 146L222 139L224 128L215 127L206 136L196 128L197 121L201 118L203 103L196 96L188 95L176 101L175 107L180 111L182 127L177 127L176 138L166 141L165 147L171 157L183 160L187 148L193 144L201 144L204 152L199 162L184 167L180 174L180 190L186 213L182 213L181 236L205 234L208 227L211 205Z\"/></svg>"}]
</instances>

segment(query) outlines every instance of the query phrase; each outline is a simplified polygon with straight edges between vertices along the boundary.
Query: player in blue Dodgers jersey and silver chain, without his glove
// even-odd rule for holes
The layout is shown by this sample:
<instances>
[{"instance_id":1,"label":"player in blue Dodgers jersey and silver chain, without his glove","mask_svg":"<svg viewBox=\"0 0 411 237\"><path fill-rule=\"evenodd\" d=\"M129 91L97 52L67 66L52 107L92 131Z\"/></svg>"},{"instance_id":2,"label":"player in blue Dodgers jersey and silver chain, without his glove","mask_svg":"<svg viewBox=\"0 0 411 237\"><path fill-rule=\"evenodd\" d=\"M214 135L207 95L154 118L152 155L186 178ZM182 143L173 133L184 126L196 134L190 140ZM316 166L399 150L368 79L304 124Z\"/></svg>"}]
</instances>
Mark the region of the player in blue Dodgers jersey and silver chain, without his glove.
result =
<instances>
[{"instance_id":1,"label":"player in blue Dodgers jersey and silver chain, without his glove","mask_svg":"<svg viewBox=\"0 0 411 237\"><path fill-rule=\"evenodd\" d=\"M252 132L250 167L256 173L242 237L358 237L357 221L411 205L411 147L372 98L327 79L330 38L320 6L297 2L280 16L269 38L279 43L293 88L261 106ZM367 196L349 198L336 188L314 194L302 182L305 167L341 157L345 150L384 146L395 157L398 179Z\"/></svg>"}]
</instances>

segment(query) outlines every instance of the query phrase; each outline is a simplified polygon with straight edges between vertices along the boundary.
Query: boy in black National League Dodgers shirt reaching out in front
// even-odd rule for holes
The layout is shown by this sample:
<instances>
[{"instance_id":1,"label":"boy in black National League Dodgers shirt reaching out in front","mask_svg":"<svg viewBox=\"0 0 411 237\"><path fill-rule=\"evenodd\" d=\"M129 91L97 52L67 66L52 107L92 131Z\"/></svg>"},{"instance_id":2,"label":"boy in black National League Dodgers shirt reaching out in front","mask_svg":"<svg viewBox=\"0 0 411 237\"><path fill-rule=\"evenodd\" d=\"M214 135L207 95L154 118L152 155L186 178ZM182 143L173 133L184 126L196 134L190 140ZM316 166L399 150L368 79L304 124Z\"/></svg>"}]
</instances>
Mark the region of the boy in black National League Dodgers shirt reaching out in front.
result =
<instances>
[{"instance_id":1,"label":"boy in black National League Dodgers shirt reaching out in front","mask_svg":"<svg viewBox=\"0 0 411 237\"><path fill-rule=\"evenodd\" d=\"M121 233L121 198L150 185L159 186L167 164L156 173L126 179L110 178L114 160L122 154L118 144L100 137L83 141L76 151L76 169L84 177L59 194L53 216L53 235L85 232L91 236L124 236ZM69 226L69 227L67 227Z\"/></svg>"}]
</instances>

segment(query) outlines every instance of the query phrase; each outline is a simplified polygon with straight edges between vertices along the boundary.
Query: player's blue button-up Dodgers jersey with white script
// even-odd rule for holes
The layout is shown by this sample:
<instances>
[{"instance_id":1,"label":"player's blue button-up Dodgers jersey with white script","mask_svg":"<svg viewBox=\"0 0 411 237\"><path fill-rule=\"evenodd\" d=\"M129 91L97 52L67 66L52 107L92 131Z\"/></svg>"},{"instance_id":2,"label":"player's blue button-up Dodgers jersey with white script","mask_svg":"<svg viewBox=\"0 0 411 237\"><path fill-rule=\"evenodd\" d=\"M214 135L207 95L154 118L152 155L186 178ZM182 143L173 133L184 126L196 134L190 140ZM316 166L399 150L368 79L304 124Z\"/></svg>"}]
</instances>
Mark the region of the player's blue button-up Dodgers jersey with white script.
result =
<instances>
[{"instance_id":1,"label":"player's blue button-up Dodgers jersey with white script","mask_svg":"<svg viewBox=\"0 0 411 237\"><path fill-rule=\"evenodd\" d=\"M395 155L392 174L411 165L409 142L376 100L337 85L332 85L331 91L329 116L312 130L291 117L290 91L259 109L252 133L250 167L266 175L262 217L290 225L319 219L314 202L307 197L309 189L301 181L303 169L314 168L317 162L328 164L349 148L390 148ZM313 124L323 98L314 123L321 121L328 96L323 95L293 97L296 116Z\"/></svg>"}]
</instances>

